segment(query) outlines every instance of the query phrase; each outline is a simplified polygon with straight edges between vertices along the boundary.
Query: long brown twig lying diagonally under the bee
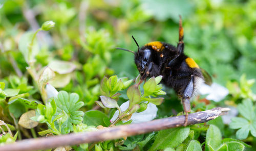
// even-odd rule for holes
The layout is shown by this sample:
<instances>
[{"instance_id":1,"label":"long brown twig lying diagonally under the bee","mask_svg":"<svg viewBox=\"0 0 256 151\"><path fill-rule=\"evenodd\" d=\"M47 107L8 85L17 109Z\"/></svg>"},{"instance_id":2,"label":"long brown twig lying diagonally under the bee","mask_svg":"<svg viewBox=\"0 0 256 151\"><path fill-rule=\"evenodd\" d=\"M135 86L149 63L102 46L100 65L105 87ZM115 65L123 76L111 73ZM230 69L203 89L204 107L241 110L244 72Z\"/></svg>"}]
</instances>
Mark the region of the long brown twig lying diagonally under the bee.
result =
<instances>
[{"instance_id":1,"label":"long brown twig lying diagonally under the bee","mask_svg":"<svg viewBox=\"0 0 256 151\"><path fill-rule=\"evenodd\" d=\"M207 111L192 113L188 115L187 124L197 124L215 119L220 115L227 114L229 108L214 108ZM75 145L81 143L92 143L98 141L118 139L126 136L144 134L169 128L181 127L185 116L175 116L153 121L121 125L118 127L106 128L94 132L72 133L67 135L53 136L48 138L36 138L17 141L0 147L1 150L39 150L55 148L58 146Z\"/></svg>"}]
</instances>

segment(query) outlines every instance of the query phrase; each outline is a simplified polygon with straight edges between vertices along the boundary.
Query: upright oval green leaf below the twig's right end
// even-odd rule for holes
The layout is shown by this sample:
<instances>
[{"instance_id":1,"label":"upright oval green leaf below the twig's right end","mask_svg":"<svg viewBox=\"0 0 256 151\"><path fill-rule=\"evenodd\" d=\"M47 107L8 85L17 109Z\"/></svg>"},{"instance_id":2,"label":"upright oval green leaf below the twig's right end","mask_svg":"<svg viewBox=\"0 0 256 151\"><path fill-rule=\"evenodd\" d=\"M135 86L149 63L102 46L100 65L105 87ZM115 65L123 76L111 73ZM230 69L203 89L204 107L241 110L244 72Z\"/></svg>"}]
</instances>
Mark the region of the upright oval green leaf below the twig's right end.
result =
<instances>
[{"instance_id":1,"label":"upright oval green leaf below the twig's right end","mask_svg":"<svg viewBox=\"0 0 256 151\"><path fill-rule=\"evenodd\" d=\"M206 133L205 143L210 145L212 148L217 149L221 144L221 132L216 125L210 125Z\"/></svg>"}]
</instances>

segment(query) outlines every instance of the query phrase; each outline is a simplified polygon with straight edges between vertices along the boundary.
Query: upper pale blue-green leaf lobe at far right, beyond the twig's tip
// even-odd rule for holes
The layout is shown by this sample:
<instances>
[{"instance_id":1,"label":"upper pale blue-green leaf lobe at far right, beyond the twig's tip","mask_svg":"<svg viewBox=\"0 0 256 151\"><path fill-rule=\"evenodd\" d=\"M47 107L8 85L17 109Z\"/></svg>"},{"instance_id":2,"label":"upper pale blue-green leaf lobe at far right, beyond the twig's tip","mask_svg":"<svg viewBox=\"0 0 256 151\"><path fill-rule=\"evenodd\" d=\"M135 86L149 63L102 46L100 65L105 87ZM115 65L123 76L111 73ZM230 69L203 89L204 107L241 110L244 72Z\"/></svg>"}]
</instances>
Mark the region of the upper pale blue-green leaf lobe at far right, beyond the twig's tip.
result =
<instances>
[{"instance_id":1,"label":"upper pale blue-green leaf lobe at far right, beyond the twig's tip","mask_svg":"<svg viewBox=\"0 0 256 151\"><path fill-rule=\"evenodd\" d=\"M248 120L252 120L255 117L253 104L250 99L243 100L242 104L238 105L238 111Z\"/></svg>"}]
</instances>

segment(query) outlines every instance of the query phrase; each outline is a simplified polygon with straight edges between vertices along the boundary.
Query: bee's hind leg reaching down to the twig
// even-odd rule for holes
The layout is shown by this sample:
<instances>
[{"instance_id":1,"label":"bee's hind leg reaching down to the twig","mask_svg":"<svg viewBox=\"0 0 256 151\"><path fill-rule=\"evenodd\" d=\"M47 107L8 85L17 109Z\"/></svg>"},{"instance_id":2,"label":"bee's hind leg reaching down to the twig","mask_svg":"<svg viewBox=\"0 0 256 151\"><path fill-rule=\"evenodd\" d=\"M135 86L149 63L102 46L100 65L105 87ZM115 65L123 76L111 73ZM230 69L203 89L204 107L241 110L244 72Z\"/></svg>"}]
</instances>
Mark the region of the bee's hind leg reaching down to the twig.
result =
<instances>
[{"instance_id":1,"label":"bee's hind leg reaching down to the twig","mask_svg":"<svg viewBox=\"0 0 256 151\"><path fill-rule=\"evenodd\" d=\"M191 75L191 79L188 82L183 95L182 95L182 105L184 108L184 112L185 112L185 122L184 122L184 127L186 127L187 125L187 120L188 120L188 112L190 112L190 98L193 94L193 89L194 89L194 76Z\"/></svg>"}]
</instances>

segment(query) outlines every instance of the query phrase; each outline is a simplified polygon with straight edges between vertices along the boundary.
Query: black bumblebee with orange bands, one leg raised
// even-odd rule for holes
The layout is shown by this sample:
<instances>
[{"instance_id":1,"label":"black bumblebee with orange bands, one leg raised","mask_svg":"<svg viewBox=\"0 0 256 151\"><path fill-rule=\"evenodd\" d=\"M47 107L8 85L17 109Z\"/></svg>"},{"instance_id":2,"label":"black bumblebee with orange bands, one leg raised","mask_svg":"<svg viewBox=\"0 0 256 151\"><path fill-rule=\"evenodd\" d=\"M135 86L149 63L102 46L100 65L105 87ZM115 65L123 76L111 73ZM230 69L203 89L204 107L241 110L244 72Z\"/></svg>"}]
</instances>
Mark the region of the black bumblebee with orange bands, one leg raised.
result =
<instances>
[{"instance_id":1,"label":"black bumblebee with orange bands, one leg raised","mask_svg":"<svg viewBox=\"0 0 256 151\"><path fill-rule=\"evenodd\" d=\"M187 125L188 112L190 112L190 100L197 94L202 83L211 84L210 75L192 59L184 54L184 31L182 20L179 22L179 42L177 47L165 42L154 41L139 47L135 53L128 49L124 51L135 55L135 63L141 74L141 82L147 77L162 75L162 83L173 88L181 98L185 112L184 126Z\"/></svg>"}]
</instances>

